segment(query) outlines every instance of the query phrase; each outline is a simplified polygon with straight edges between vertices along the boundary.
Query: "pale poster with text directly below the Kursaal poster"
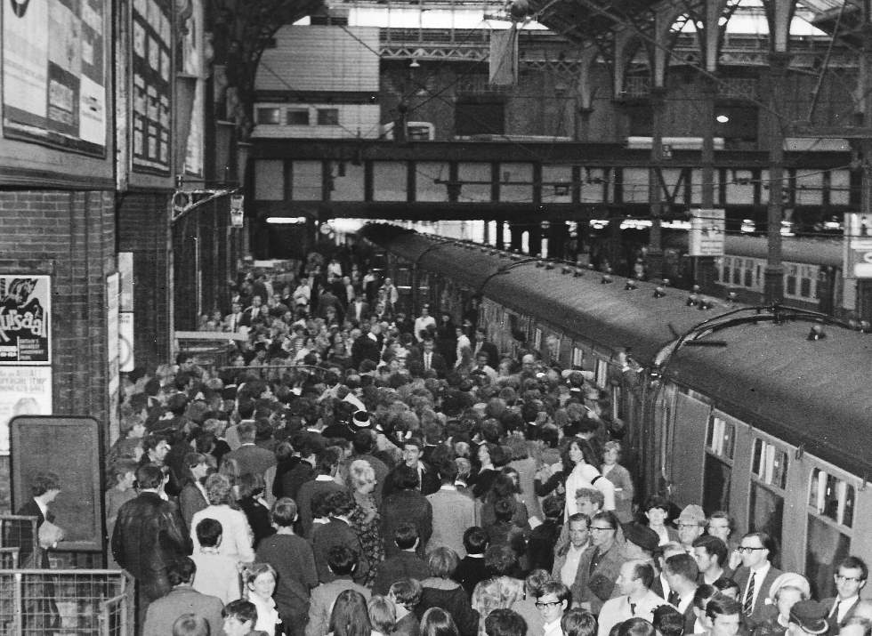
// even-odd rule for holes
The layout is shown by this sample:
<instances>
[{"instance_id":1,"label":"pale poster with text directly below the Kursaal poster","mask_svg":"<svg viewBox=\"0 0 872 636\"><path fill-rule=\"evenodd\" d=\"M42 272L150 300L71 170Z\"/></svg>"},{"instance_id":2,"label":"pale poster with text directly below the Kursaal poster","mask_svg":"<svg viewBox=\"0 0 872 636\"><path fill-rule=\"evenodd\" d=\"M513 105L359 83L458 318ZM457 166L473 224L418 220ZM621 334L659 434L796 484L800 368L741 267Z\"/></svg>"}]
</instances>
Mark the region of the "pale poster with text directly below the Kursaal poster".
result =
<instances>
[{"instance_id":1,"label":"pale poster with text directly below the Kursaal poster","mask_svg":"<svg viewBox=\"0 0 872 636\"><path fill-rule=\"evenodd\" d=\"M0 366L0 455L9 455L9 422L52 415L51 366Z\"/></svg>"}]
</instances>

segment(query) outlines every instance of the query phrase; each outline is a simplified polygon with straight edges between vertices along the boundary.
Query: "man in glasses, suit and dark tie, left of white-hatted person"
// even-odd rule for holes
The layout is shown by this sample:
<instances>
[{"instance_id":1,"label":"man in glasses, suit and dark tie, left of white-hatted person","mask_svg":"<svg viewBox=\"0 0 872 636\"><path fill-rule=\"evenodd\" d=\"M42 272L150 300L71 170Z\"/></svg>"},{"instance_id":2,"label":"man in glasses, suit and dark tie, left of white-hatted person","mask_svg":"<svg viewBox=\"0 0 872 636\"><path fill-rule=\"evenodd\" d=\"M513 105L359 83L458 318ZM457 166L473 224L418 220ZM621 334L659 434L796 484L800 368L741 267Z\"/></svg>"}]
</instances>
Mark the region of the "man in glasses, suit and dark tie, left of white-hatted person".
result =
<instances>
[{"instance_id":1,"label":"man in glasses, suit and dark tie, left of white-hatted person","mask_svg":"<svg viewBox=\"0 0 872 636\"><path fill-rule=\"evenodd\" d=\"M776 554L775 541L765 532L749 532L742 537L737 551L742 555L742 565L736 569L733 580L739 584L745 623L753 628L763 621L766 590L781 575L781 570L771 564Z\"/></svg>"}]
</instances>

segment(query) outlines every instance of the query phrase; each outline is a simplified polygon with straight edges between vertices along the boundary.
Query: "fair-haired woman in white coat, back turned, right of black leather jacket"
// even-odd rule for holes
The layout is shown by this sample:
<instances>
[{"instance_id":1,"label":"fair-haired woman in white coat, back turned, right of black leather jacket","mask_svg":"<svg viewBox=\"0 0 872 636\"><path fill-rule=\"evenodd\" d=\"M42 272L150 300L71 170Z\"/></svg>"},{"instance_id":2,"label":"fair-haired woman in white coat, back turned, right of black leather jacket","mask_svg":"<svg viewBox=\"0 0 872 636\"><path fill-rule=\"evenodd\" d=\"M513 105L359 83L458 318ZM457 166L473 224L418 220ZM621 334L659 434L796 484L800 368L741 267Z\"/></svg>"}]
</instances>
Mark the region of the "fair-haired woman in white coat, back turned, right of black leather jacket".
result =
<instances>
[{"instance_id":1,"label":"fair-haired woman in white coat, back turned, right of black leather jacket","mask_svg":"<svg viewBox=\"0 0 872 636\"><path fill-rule=\"evenodd\" d=\"M190 538L194 542L194 551L200 548L196 532L197 524L203 519L215 519L223 528L218 553L236 559L240 563L251 563L254 561L252 549L254 534L248 526L245 512L233 507L236 502L230 479L216 472L206 478L205 487L209 505L195 512L190 520Z\"/></svg>"}]
</instances>

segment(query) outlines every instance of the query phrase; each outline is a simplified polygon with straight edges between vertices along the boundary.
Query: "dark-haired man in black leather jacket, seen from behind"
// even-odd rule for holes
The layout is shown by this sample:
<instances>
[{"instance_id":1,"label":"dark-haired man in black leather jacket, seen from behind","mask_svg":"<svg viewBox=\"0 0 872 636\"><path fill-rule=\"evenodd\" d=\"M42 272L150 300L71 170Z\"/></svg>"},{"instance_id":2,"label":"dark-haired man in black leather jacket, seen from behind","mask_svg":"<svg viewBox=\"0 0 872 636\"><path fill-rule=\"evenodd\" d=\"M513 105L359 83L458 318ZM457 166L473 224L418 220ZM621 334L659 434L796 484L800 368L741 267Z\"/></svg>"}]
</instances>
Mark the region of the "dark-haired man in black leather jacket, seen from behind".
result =
<instances>
[{"instance_id":1,"label":"dark-haired man in black leather jacket, seen from behind","mask_svg":"<svg viewBox=\"0 0 872 636\"><path fill-rule=\"evenodd\" d=\"M182 519L174 505L159 495L165 479L153 463L137 469L140 494L121 506L112 533L112 555L139 584L141 619L152 601L173 589L170 566L191 551Z\"/></svg>"}]
</instances>

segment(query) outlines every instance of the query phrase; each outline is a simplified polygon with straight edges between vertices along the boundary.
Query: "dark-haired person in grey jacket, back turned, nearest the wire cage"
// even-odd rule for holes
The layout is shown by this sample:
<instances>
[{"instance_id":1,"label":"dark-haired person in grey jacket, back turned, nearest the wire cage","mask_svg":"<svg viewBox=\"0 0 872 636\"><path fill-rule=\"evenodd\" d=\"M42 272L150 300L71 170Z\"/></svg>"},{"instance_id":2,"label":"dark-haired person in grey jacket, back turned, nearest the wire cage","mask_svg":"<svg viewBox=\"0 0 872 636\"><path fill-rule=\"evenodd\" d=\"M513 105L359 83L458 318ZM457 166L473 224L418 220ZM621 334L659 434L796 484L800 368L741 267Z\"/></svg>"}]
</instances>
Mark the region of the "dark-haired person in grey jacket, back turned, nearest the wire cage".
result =
<instances>
[{"instance_id":1,"label":"dark-haired person in grey jacket, back turned, nearest the wire cage","mask_svg":"<svg viewBox=\"0 0 872 636\"><path fill-rule=\"evenodd\" d=\"M223 604L217 597L203 594L191 587L196 572L197 566L190 557L182 557L169 568L168 576L173 589L149 605L142 636L165 636L173 633L175 619L182 614L191 613L203 616L211 633L221 633Z\"/></svg>"}]
</instances>

